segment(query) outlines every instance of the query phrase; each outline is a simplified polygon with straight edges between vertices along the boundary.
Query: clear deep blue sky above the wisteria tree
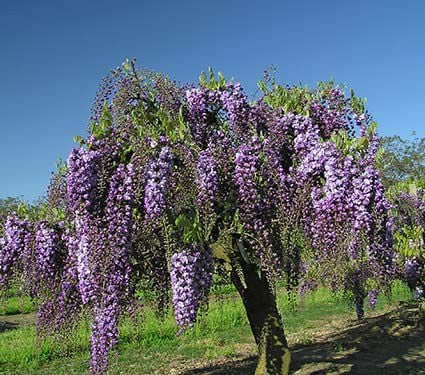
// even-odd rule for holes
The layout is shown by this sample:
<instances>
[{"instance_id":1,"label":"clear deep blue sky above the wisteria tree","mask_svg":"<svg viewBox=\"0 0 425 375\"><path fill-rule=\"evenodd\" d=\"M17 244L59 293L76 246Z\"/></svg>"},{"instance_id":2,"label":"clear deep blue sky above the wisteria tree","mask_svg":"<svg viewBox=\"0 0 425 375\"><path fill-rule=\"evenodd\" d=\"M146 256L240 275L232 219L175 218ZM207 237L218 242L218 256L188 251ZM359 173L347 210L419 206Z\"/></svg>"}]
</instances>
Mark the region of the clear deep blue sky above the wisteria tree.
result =
<instances>
[{"instance_id":1,"label":"clear deep blue sky above the wisteria tree","mask_svg":"<svg viewBox=\"0 0 425 375\"><path fill-rule=\"evenodd\" d=\"M212 66L248 93L333 77L382 135L425 137L425 1L0 0L0 198L45 193L84 135L101 78L125 58L196 81Z\"/></svg>"}]
</instances>

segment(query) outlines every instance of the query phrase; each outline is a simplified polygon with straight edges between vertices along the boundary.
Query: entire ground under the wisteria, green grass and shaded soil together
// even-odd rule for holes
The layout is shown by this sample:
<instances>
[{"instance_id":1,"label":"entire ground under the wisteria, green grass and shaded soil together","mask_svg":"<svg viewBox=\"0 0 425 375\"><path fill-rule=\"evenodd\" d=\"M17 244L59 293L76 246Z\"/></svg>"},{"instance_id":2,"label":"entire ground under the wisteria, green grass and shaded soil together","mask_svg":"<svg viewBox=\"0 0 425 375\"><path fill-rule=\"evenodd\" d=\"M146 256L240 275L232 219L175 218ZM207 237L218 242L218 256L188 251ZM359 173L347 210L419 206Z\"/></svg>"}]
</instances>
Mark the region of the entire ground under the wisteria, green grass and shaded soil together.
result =
<instances>
[{"instance_id":1,"label":"entire ground under the wisteria, green grass and shaded soil together","mask_svg":"<svg viewBox=\"0 0 425 375\"><path fill-rule=\"evenodd\" d=\"M223 323L227 324L223 331L217 328L219 324L215 322L207 334L201 335L200 330L198 335L195 331L192 336L188 335L178 339L182 341L177 341L174 328L167 331L168 326L173 327L170 320L170 323L160 327L164 334L160 338L162 342L149 343L151 346L156 345L152 346L151 350L147 343L144 343L143 347L136 347L130 339L126 342L127 334L124 332L123 346L120 347L119 356L112 360L111 374L253 374L256 363L256 357L253 355L256 351L255 344L246 323L238 318L242 316L243 311L240 310L239 315L231 317L230 311L237 312L241 308L236 302L233 303L232 301L232 304L224 304L224 308L229 310L224 310L225 313L221 316L229 320ZM322 312L319 312L319 306L324 309ZM291 318L294 321L287 314L286 327L289 327L288 341L293 357L291 374L425 374L425 330L416 325L418 306L418 303L413 302L384 305L376 312L368 311L366 319L361 322L354 319L352 311L339 310L340 305L333 302L328 305L323 301L320 305L312 303L303 310L302 317L300 314L294 314ZM315 315L309 317L309 314L313 313ZM0 355L0 374L88 373L86 346L81 349L78 347L80 344L76 344L76 354L64 357L52 350L52 347L43 349L37 357L33 352L29 352L34 344L31 344L31 340L25 335L33 332L34 315L27 313L1 317L0 339L4 336L2 345L5 345L3 350L6 351L3 351L3 362ZM211 311L209 319L211 321L213 317L219 316L220 314ZM302 324L295 319L302 321ZM229 322L234 325L233 330ZM23 332L21 336L18 336L19 332ZM223 332L226 333L225 336ZM7 334L14 336L8 339ZM158 339L158 331L149 333L149 330L145 330L143 337L149 334L155 340ZM86 336L82 337L81 342L87 341ZM24 349L25 345L27 349ZM15 349L28 350L25 354L27 359L20 360L19 369L18 365L11 367L14 366L11 365L11 359L9 364L8 359L4 361L6 354ZM44 358L39 360L38 357L43 355ZM35 362L29 367L25 361ZM3 369L2 363L5 366Z\"/></svg>"}]
</instances>

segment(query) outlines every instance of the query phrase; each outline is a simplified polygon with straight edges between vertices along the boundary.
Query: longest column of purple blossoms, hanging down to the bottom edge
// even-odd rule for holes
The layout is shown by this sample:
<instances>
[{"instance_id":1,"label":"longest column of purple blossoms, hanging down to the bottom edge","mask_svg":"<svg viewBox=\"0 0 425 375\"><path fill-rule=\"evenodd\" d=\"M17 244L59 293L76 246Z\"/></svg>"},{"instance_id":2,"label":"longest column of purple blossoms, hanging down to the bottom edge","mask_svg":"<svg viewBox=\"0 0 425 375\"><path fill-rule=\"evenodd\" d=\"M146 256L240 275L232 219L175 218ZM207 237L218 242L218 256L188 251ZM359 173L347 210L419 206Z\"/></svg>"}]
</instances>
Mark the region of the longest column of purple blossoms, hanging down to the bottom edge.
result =
<instances>
[{"instance_id":1,"label":"longest column of purple blossoms, hanging down to the bottom edge","mask_svg":"<svg viewBox=\"0 0 425 375\"><path fill-rule=\"evenodd\" d=\"M94 308L90 369L103 374L108 368L109 351L118 343L121 304L129 297L132 207L134 204L133 166L119 165L111 178L107 200L107 265L104 290Z\"/></svg>"}]
</instances>

